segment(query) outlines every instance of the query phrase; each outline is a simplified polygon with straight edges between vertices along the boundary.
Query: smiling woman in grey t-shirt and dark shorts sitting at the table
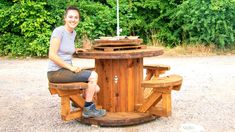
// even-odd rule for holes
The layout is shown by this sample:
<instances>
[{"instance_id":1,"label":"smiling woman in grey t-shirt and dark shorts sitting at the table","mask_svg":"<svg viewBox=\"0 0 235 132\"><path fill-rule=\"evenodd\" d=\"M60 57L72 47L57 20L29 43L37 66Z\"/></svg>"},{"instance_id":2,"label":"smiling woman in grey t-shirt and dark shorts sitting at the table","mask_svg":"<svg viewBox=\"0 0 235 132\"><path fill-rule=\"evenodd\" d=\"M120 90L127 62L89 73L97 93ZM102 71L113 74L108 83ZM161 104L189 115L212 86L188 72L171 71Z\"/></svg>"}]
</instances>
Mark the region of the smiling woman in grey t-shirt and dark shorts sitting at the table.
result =
<instances>
[{"instance_id":1,"label":"smiling woman in grey t-shirt and dark shorts sitting at the table","mask_svg":"<svg viewBox=\"0 0 235 132\"><path fill-rule=\"evenodd\" d=\"M73 53L85 51L84 49L76 49L74 45L76 36L74 29L77 27L79 19L79 10L70 6L65 11L65 24L54 29L50 40L47 77L50 82L54 83L88 82L82 115L84 118L101 117L106 114L106 111L96 109L92 102L94 93L100 90L97 85L97 73L81 70L81 68L72 65Z\"/></svg>"}]
</instances>

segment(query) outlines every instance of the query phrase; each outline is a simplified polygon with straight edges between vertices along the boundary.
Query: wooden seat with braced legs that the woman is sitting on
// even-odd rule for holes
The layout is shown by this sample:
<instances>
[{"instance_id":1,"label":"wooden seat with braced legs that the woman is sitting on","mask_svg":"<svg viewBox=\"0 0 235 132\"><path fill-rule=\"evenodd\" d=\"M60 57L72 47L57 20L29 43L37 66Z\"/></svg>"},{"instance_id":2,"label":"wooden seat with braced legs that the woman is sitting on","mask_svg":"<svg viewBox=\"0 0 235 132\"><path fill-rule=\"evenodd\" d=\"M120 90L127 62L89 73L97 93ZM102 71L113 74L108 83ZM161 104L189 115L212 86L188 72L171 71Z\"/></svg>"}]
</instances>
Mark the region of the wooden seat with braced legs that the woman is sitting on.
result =
<instances>
[{"instance_id":1,"label":"wooden seat with braced legs that the woman is sitting on","mask_svg":"<svg viewBox=\"0 0 235 132\"><path fill-rule=\"evenodd\" d=\"M88 87L87 83L50 83L49 91L51 95L58 94L61 97L61 118L65 121L80 118L85 104L81 94ZM71 110L70 101L73 101L79 108Z\"/></svg>"}]
</instances>

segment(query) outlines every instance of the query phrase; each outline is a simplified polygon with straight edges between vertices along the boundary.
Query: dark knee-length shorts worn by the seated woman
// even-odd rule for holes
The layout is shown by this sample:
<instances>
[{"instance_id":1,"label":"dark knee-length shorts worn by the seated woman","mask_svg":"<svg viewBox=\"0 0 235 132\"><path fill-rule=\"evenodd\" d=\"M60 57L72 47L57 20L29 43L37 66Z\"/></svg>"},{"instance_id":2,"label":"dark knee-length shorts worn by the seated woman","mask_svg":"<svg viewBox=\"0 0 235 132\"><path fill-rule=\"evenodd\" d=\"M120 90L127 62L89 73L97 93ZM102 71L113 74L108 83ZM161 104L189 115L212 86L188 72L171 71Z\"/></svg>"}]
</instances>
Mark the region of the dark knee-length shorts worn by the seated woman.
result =
<instances>
[{"instance_id":1,"label":"dark knee-length shorts worn by the seated woman","mask_svg":"<svg viewBox=\"0 0 235 132\"><path fill-rule=\"evenodd\" d=\"M82 70L74 73L68 69L59 69L58 71L47 72L47 78L53 83L67 83L67 82L88 82L91 76L90 70Z\"/></svg>"}]
</instances>

